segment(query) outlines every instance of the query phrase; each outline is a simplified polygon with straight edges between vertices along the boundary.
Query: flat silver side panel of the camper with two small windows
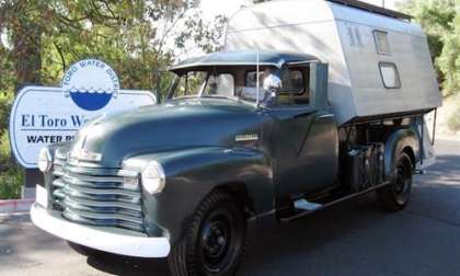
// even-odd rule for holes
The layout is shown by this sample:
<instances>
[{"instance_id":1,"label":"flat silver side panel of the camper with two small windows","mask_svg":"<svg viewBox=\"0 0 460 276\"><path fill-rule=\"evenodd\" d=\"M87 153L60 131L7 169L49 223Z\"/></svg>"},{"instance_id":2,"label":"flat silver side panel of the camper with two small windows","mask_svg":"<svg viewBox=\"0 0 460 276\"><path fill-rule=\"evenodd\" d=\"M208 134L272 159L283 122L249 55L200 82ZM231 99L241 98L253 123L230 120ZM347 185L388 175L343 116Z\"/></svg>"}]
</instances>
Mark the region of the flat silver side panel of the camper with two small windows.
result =
<instances>
[{"instance_id":1,"label":"flat silver side panel of the camper with two small windows","mask_svg":"<svg viewBox=\"0 0 460 276\"><path fill-rule=\"evenodd\" d=\"M334 12L337 13L357 116L440 105L440 93L423 32L416 32L418 30L413 24L378 14L369 16L355 9L338 7L334 8Z\"/></svg>"}]
</instances>

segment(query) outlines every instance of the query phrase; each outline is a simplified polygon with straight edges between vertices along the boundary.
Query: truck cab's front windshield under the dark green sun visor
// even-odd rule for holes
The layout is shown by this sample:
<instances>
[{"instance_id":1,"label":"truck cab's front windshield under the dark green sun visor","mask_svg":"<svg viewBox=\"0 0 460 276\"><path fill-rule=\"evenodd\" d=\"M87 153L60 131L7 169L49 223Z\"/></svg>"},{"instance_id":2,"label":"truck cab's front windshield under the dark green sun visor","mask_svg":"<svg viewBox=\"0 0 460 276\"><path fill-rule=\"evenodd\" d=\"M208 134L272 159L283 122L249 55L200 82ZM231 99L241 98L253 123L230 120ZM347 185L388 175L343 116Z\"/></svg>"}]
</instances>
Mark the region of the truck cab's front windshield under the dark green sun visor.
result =
<instances>
[{"instance_id":1,"label":"truck cab's front windshield under the dark green sun visor","mask_svg":"<svg viewBox=\"0 0 460 276\"><path fill-rule=\"evenodd\" d=\"M258 100L267 99L264 79L276 69L261 67L258 71ZM226 97L255 102L257 99L257 73L255 67L238 67L234 69L210 71L187 71L177 76L170 90L170 99L183 97Z\"/></svg>"}]
</instances>

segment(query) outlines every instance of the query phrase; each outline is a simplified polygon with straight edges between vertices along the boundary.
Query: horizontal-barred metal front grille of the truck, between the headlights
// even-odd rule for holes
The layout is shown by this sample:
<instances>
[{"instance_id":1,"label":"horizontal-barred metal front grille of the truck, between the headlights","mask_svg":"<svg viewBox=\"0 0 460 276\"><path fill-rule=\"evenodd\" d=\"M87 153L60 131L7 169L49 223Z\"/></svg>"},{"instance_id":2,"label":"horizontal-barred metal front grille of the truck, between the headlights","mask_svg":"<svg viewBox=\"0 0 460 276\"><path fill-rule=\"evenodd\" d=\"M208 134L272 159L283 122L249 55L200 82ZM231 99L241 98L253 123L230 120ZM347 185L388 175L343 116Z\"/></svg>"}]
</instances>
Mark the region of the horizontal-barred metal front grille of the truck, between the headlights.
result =
<instances>
[{"instance_id":1,"label":"horizontal-barred metal front grille of the truck, between the headlights","mask_svg":"<svg viewBox=\"0 0 460 276\"><path fill-rule=\"evenodd\" d=\"M81 173L55 163L53 172L53 209L77 223L113 227L145 232L139 182L131 185L125 176Z\"/></svg>"}]
</instances>

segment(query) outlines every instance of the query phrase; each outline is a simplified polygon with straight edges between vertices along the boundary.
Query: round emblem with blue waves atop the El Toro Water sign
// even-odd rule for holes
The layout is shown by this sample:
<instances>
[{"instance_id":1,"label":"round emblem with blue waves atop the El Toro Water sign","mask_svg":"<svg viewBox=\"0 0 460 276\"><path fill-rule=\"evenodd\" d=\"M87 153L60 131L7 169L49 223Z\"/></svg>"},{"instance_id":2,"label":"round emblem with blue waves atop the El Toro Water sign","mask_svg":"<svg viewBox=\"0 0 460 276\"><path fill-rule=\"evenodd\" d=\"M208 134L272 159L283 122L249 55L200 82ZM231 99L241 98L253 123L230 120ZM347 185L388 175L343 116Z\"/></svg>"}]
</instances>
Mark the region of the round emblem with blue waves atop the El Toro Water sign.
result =
<instances>
[{"instance_id":1,"label":"round emblem with blue waves atop the El Toro Water sign","mask_svg":"<svg viewBox=\"0 0 460 276\"><path fill-rule=\"evenodd\" d=\"M84 59L73 64L64 74L62 91L73 103L85 111L99 111L106 106L119 91L115 71L97 59Z\"/></svg>"}]
</instances>

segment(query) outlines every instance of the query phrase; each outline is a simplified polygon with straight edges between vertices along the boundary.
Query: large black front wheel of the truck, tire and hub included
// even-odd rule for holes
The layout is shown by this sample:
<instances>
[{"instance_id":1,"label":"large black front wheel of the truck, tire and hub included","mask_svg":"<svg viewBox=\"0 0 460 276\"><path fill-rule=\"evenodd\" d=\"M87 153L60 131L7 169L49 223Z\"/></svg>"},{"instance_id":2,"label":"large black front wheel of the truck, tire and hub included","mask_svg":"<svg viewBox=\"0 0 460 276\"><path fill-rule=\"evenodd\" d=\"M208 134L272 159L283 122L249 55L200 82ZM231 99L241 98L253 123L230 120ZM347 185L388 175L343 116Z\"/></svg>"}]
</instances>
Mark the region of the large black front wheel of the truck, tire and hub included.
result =
<instances>
[{"instance_id":1,"label":"large black front wheel of the truck, tire and hub included","mask_svg":"<svg viewBox=\"0 0 460 276\"><path fill-rule=\"evenodd\" d=\"M229 194L209 194L193 215L185 237L175 244L168 263L173 276L234 275L245 248L246 220L241 205Z\"/></svg>"}]
</instances>

